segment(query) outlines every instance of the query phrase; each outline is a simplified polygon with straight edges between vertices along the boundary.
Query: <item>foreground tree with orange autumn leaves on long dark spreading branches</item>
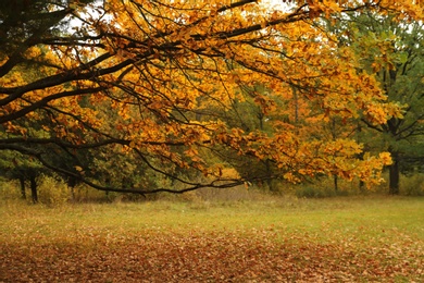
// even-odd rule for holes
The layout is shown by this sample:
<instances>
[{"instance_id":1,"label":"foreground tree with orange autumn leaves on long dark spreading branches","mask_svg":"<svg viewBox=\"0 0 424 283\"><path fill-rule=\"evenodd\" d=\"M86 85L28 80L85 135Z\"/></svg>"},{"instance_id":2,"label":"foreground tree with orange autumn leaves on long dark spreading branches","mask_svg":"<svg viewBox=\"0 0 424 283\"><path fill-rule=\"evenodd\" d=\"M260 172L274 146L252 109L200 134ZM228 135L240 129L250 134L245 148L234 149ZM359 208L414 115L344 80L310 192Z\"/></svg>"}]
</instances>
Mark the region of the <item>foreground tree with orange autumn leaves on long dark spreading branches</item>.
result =
<instances>
[{"instance_id":1,"label":"foreground tree with orange autumn leaves on long dark spreading branches","mask_svg":"<svg viewBox=\"0 0 424 283\"><path fill-rule=\"evenodd\" d=\"M257 180L225 175L225 163L204 158L216 150L266 161L289 181L316 172L371 180L389 162L386 155L354 160L361 148L351 140L303 140L278 121L273 133L244 131L208 111L229 111L241 88L262 85L280 97L296 88L327 116L362 111L370 123L385 123L399 115L376 79L356 71L357 54L338 48L312 21L365 8L420 17L416 7L307 2L285 12L253 0L23 0L16 2L18 21L8 5L0 11L8 39L0 46L0 150L32 156L97 189L127 193L183 193ZM71 20L79 22L61 27ZM37 73L26 76L25 70ZM277 113L272 97L253 95L263 112ZM116 116L113 123L104 119L105 107ZM114 152L126 153L183 188L116 188L96 179L93 163L76 162L82 165L70 170L49 160L51 152L78 158L80 150L107 152L111 162L120 156ZM180 177L179 170L204 180Z\"/></svg>"}]
</instances>

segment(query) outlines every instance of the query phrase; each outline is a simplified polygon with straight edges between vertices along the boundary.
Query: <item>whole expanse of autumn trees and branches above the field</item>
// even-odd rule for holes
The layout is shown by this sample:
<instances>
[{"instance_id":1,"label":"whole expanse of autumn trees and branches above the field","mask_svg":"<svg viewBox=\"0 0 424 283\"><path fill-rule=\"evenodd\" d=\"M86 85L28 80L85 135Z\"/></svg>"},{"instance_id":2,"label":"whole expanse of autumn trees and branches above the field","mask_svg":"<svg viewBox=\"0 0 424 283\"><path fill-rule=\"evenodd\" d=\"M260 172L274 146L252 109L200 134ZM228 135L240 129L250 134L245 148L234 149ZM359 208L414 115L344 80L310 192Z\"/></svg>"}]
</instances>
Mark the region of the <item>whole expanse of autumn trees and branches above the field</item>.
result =
<instances>
[{"instance_id":1,"label":"whole expanse of autumn trees and branches above the field","mask_svg":"<svg viewBox=\"0 0 424 283\"><path fill-rule=\"evenodd\" d=\"M323 182L397 195L412 177L423 194L422 12L385 0L7 1L1 182L35 202L49 179L146 197Z\"/></svg>"}]
</instances>

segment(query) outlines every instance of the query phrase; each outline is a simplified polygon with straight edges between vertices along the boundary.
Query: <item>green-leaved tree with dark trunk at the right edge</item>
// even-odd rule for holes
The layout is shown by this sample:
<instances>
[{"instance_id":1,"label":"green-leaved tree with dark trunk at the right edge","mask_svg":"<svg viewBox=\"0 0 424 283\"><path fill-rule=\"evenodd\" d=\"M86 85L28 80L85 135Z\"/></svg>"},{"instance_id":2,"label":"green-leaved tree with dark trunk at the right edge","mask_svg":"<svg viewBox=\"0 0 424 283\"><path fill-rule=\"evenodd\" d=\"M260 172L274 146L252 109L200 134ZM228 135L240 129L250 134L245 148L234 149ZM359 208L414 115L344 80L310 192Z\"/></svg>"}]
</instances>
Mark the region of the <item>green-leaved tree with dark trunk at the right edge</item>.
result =
<instances>
[{"instance_id":1,"label":"green-leaved tree with dark trunk at the right edge","mask_svg":"<svg viewBox=\"0 0 424 283\"><path fill-rule=\"evenodd\" d=\"M375 74L387 100L402 107L402 116L383 124L362 120L374 136L367 137L369 147L390 152L389 193L399 194L401 167L408 160L424 160L420 153L424 150L420 143L424 136L423 22L374 11L348 15L338 24L340 42L358 52L362 67Z\"/></svg>"}]
</instances>

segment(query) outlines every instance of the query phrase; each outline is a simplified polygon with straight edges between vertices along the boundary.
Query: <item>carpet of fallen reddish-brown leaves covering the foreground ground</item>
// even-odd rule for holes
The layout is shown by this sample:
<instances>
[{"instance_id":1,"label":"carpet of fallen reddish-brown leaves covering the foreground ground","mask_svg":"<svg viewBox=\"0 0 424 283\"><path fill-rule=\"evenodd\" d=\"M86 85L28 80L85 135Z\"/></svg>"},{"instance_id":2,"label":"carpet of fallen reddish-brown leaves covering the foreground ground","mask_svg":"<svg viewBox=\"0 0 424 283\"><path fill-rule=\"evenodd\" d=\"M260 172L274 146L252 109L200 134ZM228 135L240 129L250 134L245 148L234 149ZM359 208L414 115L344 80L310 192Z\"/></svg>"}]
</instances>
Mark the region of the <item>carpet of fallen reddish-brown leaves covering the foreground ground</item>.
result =
<instances>
[{"instance_id":1,"label":"carpet of fallen reddish-brown leaves covering the foreground ground","mask_svg":"<svg viewBox=\"0 0 424 283\"><path fill-rule=\"evenodd\" d=\"M0 243L0 282L422 282L421 241L366 243L262 227L82 227ZM334 237L334 235L333 235Z\"/></svg>"}]
</instances>

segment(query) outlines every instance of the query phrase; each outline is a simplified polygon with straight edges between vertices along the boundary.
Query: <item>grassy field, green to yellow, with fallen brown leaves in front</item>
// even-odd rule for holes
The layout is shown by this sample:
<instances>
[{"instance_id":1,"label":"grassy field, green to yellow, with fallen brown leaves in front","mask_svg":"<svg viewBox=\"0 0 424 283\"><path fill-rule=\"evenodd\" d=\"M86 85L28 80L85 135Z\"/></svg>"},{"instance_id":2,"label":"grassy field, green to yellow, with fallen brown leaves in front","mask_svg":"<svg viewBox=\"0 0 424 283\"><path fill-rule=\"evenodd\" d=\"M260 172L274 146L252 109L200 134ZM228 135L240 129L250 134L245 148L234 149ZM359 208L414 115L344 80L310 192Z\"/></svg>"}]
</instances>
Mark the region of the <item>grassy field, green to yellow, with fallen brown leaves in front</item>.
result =
<instances>
[{"instance_id":1,"label":"grassy field, green to yellow, with fallen brown leaves in front","mask_svg":"<svg viewBox=\"0 0 424 283\"><path fill-rule=\"evenodd\" d=\"M0 282L424 281L422 197L0 204Z\"/></svg>"}]
</instances>

